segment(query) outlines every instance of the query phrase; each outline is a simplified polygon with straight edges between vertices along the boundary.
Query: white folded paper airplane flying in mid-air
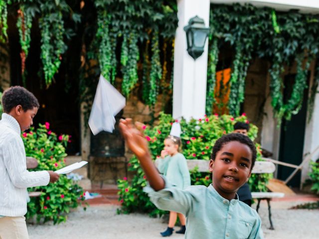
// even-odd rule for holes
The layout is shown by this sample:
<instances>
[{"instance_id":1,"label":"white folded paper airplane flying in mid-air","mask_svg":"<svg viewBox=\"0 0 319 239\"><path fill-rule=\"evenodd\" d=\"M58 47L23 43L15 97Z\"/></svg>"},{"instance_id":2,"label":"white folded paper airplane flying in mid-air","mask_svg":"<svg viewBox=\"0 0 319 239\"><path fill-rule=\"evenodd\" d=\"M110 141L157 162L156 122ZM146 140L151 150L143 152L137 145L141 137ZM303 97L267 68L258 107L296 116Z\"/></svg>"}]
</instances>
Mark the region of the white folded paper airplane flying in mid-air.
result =
<instances>
[{"instance_id":1,"label":"white folded paper airplane flying in mid-air","mask_svg":"<svg viewBox=\"0 0 319 239\"><path fill-rule=\"evenodd\" d=\"M94 135L101 131L114 130L115 118L125 107L125 97L118 92L102 75L96 89L89 126Z\"/></svg>"}]
</instances>

